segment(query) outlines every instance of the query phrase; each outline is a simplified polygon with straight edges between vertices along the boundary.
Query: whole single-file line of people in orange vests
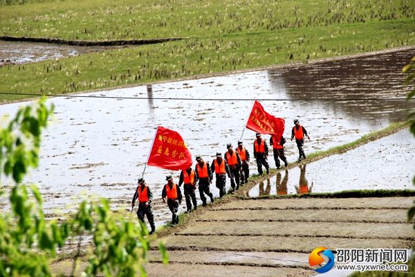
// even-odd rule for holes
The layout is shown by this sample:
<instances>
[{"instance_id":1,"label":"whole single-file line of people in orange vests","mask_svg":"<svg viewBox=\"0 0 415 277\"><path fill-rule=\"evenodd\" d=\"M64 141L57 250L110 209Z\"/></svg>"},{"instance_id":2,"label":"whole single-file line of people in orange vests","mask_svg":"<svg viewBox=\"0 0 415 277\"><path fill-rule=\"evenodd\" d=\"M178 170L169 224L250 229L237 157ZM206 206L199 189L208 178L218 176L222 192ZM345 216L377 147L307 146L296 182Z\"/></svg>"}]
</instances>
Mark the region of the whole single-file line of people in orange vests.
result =
<instances>
[{"instance_id":1,"label":"whole single-file line of people in orange vests","mask_svg":"<svg viewBox=\"0 0 415 277\"><path fill-rule=\"evenodd\" d=\"M306 159L302 148L304 145L304 136L307 136L308 139L310 139L310 137L308 136L306 129L299 125L297 119L294 120L294 123L295 126L292 129L291 141L293 141L293 138L295 137L297 148L299 149L298 161L302 161L302 159ZM263 175L264 172L262 166L264 166L266 174L268 175L270 168L268 164L268 144L262 139L260 133L256 133L255 136L256 139L253 143L253 154L257 161L258 173L259 175ZM275 166L277 168L280 168L281 166L279 159L284 162L285 167L288 166L288 161L284 155L284 143L286 143L284 136L281 136L280 139L273 136L270 138L270 145L273 146ZM234 193L240 186L243 186L243 184L248 182L250 154L243 145L243 142L238 141L236 150L233 150L232 143L228 143L226 148L228 151L223 155L224 159L222 158L221 152L216 152L216 159L212 161L210 166L200 155L197 155L195 168L193 169L190 167L186 170L182 170L178 184L173 181L171 175L166 177L167 184L163 187L162 199L163 202L166 202L167 199L167 206L169 206L169 210L172 212L172 225L178 224L178 206L183 199L180 189L182 184L187 207L186 213L190 213L192 211L192 205L194 210L197 209L196 188L198 188L198 181L199 196L202 201L202 206L207 205L207 196L210 198L210 202L214 203L214 197L210 192L213 173L215 174L216 188L219 189L219 197L223 197L226 194L226 176L230 179L231 189L229 193ZM131 209L138 200L138 219L144 222L144 216L147 216L147 220L151 227L150 234L155 231L154 215L151 208L152 197L151 190L145 183L145 180L142 178L138 179L138 187L133 195Z\"/></svg>"}]
</instances>

